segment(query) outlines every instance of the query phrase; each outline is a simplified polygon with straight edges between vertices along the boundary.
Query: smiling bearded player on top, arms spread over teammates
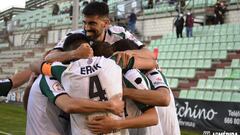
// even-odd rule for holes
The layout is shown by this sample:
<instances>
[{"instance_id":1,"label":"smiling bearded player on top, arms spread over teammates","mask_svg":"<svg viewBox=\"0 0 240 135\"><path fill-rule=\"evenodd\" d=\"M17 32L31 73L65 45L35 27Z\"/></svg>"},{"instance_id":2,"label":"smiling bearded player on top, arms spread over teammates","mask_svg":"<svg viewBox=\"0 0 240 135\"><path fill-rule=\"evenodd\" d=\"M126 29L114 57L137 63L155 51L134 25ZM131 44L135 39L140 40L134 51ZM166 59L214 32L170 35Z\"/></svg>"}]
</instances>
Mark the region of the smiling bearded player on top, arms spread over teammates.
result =
<instances>
[{"instance_id":1,"label":"smiling bearded player on top, arms spread over teammates","mask_svg":"<svg viewBox=\"0 0 240 135\"><path fill-rule=\"evenodd\" d=\"M153 53L150 52L148 49L146 49L144 45L139 40L137 40L130 32L126 31L123 27L110 25L109 9L106 3L103 3L103 2L89 3L84 8L83 15L84 15L83 29L70 32L69 34L67 34L67 36L71 34L81 33L90 40L90 44L96 41L108 42L110 44L113 44L116 41L119 41L121 39L129 39L134 41L138 45L138 50L118 52L117 63L121 57L125 58L123 59L124 63L125 61L126 63L128 63L128 60L131 56L154 59ZM46 60L48 62L53 62L56 60L65 61L65 60L70 60L77 57L77 55L74 55L73 53L70 53L70 52L61 52L63 48L64 40L65 39L60 41L54 47L55 50L52 51L52 53L50 53L46 57ZM123 56L128 56L128 57L123 57ZM147 65L147 64L141 64L140 66L142 67L138 67L139 69L149 69L153 67L153 65Z\"/></svg>"}]
</instances>

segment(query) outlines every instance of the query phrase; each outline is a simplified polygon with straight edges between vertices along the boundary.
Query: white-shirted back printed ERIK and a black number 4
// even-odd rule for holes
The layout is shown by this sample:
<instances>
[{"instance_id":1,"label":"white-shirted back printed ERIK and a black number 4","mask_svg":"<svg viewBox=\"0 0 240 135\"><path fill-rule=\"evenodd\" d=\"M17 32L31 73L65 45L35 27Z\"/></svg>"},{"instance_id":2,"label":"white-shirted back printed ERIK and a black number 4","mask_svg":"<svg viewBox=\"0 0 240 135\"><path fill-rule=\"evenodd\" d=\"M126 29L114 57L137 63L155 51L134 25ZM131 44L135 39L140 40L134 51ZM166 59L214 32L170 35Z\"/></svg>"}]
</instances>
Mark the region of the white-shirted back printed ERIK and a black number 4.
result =
<instances>
[{"instance_id":1,"label":"white-shirted back printed ERIK and a black number 4","mask_svg":"<svg viewBox=\"0 0 240 135\"><path fill-rule=\"evenodd\" d=\"M63 72L61 82L71 97L106 101L114 95L122 94L121 68L113 60L104 57L81 59L71 63ZM86 119L106 114L71 114L72 134L91 135ZM108 115L120 119L111 113Z\"/></svg>"}]
</instances>

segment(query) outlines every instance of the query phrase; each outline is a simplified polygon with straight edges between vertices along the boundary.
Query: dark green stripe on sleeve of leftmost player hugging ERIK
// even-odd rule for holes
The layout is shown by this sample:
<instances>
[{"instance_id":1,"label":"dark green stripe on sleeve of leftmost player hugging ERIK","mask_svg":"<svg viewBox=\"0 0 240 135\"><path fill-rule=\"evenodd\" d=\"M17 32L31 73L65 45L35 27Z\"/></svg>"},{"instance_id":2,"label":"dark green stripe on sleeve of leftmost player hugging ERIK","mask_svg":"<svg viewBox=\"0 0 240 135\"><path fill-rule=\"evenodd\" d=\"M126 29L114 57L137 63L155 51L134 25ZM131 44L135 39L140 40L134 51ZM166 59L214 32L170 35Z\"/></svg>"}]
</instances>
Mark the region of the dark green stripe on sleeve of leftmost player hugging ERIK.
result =
<instances>
[{"instance_id":1,"label":"dark green stripe on sleeve of leftmost player hugging ERIK","mask_svg":"<svg viewBox=\"0 0 240 135\"><path fill-rule=\"evenodd\" d=\"M44 75L42 76L42 78L40 80L39 86L40 86L42 94L45 95L52 103L55 103L56 98L55 98L53 92L51 91Z\"/></svg>"}]
</instances>

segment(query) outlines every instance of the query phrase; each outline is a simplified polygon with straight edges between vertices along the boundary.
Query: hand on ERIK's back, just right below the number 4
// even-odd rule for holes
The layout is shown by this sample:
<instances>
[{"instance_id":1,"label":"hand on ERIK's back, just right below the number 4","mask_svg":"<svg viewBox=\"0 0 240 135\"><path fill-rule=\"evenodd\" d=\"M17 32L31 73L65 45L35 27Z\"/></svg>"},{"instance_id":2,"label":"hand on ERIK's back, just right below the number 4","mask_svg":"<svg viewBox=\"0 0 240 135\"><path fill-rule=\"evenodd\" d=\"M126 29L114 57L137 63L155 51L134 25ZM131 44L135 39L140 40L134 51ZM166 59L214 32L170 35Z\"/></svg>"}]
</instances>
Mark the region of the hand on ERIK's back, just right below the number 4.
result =
<instances>
[{"instance_id":1,"label":"hand on ERIK's back, just right below the number 4","mask_svg":"<svg viewBox=\"0 0 240 135\"><path fill-rule=\"evenodd\" d=\"M110 104L110 110L113 114L116 114L118 116L123 116L124 112L124 101L122 100L122 95L118 94L113 96L109 101Z\"/></svg>"}]
</instances>

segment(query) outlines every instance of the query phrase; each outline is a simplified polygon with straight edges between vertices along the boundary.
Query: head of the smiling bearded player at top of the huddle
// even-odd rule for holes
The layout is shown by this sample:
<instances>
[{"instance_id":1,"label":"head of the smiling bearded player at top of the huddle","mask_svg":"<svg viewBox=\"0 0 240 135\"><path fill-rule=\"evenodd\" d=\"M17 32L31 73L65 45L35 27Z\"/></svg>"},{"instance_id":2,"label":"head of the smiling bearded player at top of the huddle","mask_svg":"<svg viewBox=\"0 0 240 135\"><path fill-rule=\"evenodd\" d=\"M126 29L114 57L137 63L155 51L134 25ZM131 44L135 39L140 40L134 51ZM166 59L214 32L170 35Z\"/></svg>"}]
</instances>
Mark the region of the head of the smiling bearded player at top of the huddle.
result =
<instances>
[{"instance_id":1,"label":"head of the smiling bearded player at top of the huddle","mask_svg":"<svg viewBox=\"0 0 240 135\"><path fill-rule=\"evenodd\" d=\"M91 2L83 9L83 28L91 40L102 41L109 27L109 9L104 2Z\"/></svg>"}]
</instances>

